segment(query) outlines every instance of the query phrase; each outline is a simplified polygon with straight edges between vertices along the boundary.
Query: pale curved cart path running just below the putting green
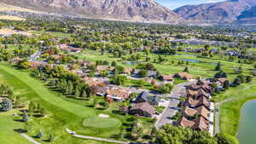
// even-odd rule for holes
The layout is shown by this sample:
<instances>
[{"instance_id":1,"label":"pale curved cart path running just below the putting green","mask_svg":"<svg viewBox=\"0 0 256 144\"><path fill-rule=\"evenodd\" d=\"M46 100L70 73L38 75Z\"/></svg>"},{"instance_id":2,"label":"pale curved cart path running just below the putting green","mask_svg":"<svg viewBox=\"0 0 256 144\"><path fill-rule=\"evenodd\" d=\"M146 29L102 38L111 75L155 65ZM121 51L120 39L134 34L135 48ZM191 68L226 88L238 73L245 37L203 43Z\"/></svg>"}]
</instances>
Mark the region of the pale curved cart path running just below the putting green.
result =
<instances>
[{"instance_id":1,"label":"pale curved cart path running just below the putting green","mask_svg":"<svg viewBox=\"0 0 256 144\"><path fill-rule=\"evenodd\" d=\"M67 133L72 135L73 131L72 130L68 130L66 129ZM129 141L115 141L115 140L109 140L109 139L105 139L105 138L100 138L100 137L93 137L93 136L85 136L85 135L73 135L75 137L78 138L82 138L82 139L89 139L89 140L96 140L96 141L106 141L106 142L112 142L112 143L120 143L120 144L129 144Z\"/></svg>"}]
</instances>

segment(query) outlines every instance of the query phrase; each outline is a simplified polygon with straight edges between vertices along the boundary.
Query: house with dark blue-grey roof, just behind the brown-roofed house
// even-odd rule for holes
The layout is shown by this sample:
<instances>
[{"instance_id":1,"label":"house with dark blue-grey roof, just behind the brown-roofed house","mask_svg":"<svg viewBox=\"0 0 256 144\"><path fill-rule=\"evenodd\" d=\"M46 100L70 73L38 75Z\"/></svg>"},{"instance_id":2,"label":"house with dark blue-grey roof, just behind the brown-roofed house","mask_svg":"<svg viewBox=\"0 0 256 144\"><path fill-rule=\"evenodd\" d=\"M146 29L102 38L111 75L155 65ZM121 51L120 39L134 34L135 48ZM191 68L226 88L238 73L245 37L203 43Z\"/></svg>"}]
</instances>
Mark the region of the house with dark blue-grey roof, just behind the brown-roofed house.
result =
<instances>
[{"instance_id":1,"label":"house with dark blue-grey roof, just behind the brown-roofed house","mask_svg":"<svg viewBox=\"0 0 256 144\"><path fill-rule=\"evenodd\" d=\"M159 97L150 96L146 91L143 91L142 93L137 95L137 98L134 102L135 103L148 102L150 105L158 106L159 101L160 101Z\"/></svg>"}]
</instances>

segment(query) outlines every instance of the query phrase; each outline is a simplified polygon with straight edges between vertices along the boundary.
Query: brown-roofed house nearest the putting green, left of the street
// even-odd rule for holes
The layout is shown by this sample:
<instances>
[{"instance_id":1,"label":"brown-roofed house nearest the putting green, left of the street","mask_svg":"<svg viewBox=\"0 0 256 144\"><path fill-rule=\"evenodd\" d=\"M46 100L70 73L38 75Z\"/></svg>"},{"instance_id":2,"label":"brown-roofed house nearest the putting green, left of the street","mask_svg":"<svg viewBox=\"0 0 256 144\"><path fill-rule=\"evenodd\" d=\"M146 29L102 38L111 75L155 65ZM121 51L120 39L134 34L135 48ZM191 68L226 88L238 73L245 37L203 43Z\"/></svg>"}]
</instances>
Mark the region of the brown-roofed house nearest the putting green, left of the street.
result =
<instances>
[{"instance_id":1,"label":"brown-roofed house nearest the putting green, left of the street","mask_svg":"<svg viewBox=\"0 0 256 144\"><path fill-rule=\"evenodd\" d=\"M136 103L131 107L129 113L132 115L143 116L152 118L154 116L155 109L148 102Z\"/></svg>"}]
</instances>

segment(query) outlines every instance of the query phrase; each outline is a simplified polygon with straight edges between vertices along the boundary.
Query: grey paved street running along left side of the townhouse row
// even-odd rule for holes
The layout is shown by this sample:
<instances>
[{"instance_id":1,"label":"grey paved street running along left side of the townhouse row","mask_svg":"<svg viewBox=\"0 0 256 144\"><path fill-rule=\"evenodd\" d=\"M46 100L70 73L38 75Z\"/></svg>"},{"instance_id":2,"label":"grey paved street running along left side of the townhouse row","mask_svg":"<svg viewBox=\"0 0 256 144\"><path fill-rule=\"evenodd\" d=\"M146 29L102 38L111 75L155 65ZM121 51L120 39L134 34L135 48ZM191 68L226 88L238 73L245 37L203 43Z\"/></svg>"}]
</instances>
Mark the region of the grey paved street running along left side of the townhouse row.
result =
<instances>
[{"instance_id":1,"label":"grey paved street running along left side of the townhouse row","mask_svg":"<svg viewBox=\"0 0 256 144\"><path fill-rule=\"evenodd\" d=\"M193 84L195 82L186 82L183 84L177 84L174 89L172 90L172 95L170 95L171 101L164 110L164 112L160 115L160 118L155 123L155 127L159 129L162 125L165 124L172 124L172 116L177 112L177 105L179 103L179 97L183 94L181 94L181 90L185 89L184 86Z\"/></svg>"}]
</instances>

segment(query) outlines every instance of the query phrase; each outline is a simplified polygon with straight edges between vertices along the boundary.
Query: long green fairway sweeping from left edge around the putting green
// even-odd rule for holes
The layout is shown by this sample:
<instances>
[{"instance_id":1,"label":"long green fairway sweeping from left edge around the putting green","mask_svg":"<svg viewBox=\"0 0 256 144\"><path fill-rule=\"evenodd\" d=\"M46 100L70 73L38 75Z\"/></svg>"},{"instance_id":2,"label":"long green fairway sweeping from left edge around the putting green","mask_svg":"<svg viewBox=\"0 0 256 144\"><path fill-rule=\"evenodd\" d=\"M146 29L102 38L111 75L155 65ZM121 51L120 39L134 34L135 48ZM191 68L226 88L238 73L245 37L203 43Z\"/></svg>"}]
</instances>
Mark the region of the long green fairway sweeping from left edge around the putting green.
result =
<instances>
[{"instance_id":1,"label":"long green fairway sweeping from left edge around the putting green","mask_svg":"<svg viewBox=\"0 0 256 144\"><path fill-rule=\"evenodd\" d=\"M20 94L30 101L40 103L46 108L47 118L36 118L32 122L33 129L29 135L34 136L38 130L43 130L44 135L56 135L56 141L59 143L86 143L84 140L73 138L64 130L68 127L71 130L78 130L83 135L94 135L99 137L111 137L119 134L119 128L112 127L108 130L90 130L89 127L83 126L83 119L96 116L101 111L90 107L77 105L71 101L65 101L58 96L59 94L47 89L43 83L29 76L28 72L21 72L11 66L0 66L2 79L9 84L15 92L26 91ZM110 113L111 114L111 113ZM110 115L112 116L112 115ZM117 117L115 117L117 118ZM116 119L119 122L119 118ZM38 140L44 143L42 140ZM99 143L99 142L97 142Z\"/></svg>"}]
</instances>

